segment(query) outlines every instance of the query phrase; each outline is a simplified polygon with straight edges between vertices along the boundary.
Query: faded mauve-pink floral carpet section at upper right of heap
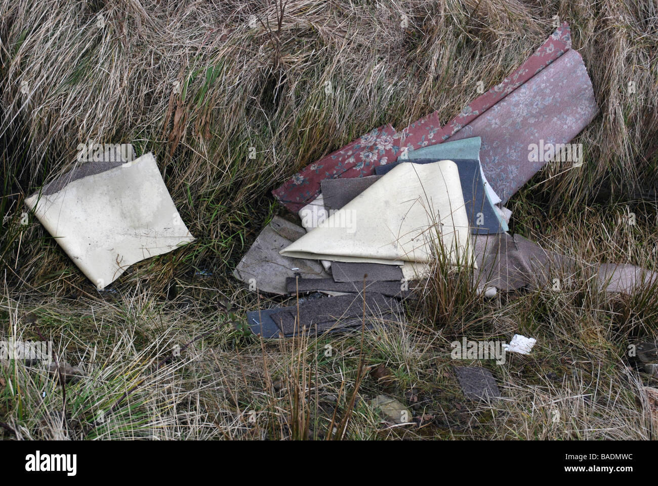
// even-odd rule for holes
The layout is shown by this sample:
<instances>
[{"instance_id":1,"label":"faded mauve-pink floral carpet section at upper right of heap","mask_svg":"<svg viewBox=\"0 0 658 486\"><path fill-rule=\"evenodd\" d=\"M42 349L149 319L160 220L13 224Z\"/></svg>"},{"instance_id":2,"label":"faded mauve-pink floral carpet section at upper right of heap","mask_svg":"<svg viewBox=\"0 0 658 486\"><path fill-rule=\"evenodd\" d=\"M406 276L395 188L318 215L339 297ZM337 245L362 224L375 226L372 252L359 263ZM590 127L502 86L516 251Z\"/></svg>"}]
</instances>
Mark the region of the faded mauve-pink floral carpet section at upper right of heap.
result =
<instances>
[{"instance_id":1,"label":"faded mauve-pink floral carpet section at upper right of heap","mask_svg":"<svg viewBox=\"0 0 658 486\"><path fill-rule=\"evenodd\" d=\"M567 144L598 111L582 57L571 50L448 140L482 139L484 175L506 202L549 163L551 157L543 153L542 157L529 156L532 144Z\"/></svg>"}]
</instances>

